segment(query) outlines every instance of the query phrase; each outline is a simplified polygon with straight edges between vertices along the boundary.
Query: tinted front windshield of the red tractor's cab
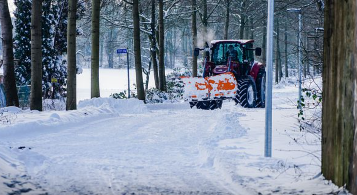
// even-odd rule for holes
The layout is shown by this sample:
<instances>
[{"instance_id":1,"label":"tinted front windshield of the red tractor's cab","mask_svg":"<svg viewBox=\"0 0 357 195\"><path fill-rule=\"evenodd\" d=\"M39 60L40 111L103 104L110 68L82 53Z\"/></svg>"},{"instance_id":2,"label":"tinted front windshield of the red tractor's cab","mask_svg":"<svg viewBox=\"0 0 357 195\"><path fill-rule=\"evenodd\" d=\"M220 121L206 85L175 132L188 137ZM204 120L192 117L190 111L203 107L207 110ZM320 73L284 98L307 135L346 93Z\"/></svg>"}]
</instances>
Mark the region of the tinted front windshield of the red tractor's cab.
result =
<instances>
[{"instance_id":1,"label":"tinted front windshield of the red tractor's cab","mask_svg":"<svg viewBox=\"0 0 357 195\"><path fill-rule=\"evenodd\" d=\"M231 57L235 62L243 62L243 52L239 43L222 42L212 48L212 62L215 64L227 63Z\"/></svg>"}]
</instances>

